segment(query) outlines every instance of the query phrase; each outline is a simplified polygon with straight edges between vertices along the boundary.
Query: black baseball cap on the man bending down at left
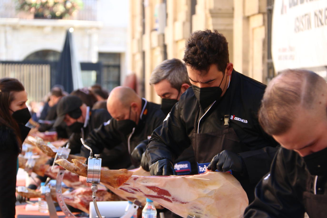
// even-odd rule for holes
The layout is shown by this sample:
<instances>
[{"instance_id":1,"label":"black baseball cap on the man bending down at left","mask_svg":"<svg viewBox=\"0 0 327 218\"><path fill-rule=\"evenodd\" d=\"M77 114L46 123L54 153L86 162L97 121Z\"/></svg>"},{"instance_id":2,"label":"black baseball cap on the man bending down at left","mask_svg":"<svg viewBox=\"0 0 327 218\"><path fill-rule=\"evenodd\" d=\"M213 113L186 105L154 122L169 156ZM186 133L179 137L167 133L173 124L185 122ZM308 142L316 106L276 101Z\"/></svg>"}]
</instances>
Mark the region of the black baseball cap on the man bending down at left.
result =
<instances>
[{"instance_id":1,"label":"black baseball cap on the man bending down at left","mask_svg":"<svg viewBox=\"0 0 327 218\"><path fill-rule=\"evenodd\" d=\"M82 105L82 100L75 95L63 96L57 104L57 119L53 124L54 127L59 126L65 118L65 115L76 110Z\"/></svg>"}]
</instances>

